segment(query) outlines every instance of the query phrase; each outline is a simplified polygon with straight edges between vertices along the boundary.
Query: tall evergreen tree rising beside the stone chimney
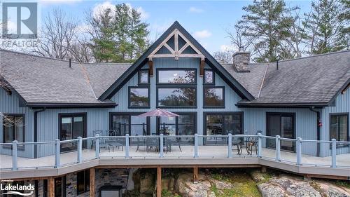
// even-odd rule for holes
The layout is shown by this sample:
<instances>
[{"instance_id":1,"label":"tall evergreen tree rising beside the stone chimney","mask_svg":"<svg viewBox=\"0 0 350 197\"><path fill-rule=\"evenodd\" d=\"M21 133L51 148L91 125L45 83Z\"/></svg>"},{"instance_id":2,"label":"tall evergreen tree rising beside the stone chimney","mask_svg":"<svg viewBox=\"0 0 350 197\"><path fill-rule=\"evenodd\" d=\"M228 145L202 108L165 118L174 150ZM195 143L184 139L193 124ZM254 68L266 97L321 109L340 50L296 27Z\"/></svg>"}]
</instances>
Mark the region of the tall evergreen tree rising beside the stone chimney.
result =
<instances>
[{"instance_id":1,"label":"tall evergreen tree rising beside the stone chimney","mask_svg":"<svg viewBox=\"0 0 350 197\"><path fill-rule=\"evenodd\" d=\"M290 27L294 19L287 15L297 8L287 8L283 0L254 1L245 6L239 27L244 29L243 35L253 38L253 52L256 53L256 62L273 62L284 59L281 42L291 36Z\"/></svg>"}]
</instances>

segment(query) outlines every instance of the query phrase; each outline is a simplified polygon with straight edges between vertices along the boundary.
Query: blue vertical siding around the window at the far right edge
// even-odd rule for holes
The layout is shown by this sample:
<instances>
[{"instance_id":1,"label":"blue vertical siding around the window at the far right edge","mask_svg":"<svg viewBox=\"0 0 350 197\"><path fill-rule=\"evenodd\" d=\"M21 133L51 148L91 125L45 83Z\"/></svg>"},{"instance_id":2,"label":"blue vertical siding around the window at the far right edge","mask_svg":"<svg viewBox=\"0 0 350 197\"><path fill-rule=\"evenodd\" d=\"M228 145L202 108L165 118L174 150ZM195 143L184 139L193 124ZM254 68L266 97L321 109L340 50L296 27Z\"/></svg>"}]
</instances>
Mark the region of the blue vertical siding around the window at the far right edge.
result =
<instances>
[{"instance_id":1,"label":"blue vertical siding around the window at the far right edge","mask_svg":"<svg viewBox=\"0 0 350 197\"><path fill-rule=\"evenodd\" d=\"M346 90L344 94L340 93L335 99L335 107L325 107L321 111L321 140L332 140L330 139L330 114L332 113L349 113L350 116L350 90ZM348 119L348 126L349 126ZM349 132L349 130L348 130ZM350 133L348 133L350 135ZM330 156L330 145L323 144L321 148L321 156ZM350 153L350 147L343 147L337 149L337 154Z\"/></svg>"}]
</instances>

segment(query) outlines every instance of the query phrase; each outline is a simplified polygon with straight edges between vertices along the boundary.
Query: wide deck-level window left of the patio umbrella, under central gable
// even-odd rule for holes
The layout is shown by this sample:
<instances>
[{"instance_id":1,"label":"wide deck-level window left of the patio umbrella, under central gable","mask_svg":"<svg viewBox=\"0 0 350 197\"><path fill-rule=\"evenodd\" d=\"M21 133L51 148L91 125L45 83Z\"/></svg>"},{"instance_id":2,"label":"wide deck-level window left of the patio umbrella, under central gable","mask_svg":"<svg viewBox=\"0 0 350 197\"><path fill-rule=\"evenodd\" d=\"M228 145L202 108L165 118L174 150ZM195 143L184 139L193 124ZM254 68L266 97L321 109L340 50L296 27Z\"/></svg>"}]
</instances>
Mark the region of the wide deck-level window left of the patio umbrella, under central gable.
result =
<instances>
[{"instance_id":1,"label":"wide deck-level window left of the patio umbrella, under central gable","mask_svg":"<svg viewBox=\"0 0 350 197\"><path fill-rule=\"evenodd\" d=\"M149 117L139 117L138 114L111 113L110 129L116 135L149 135Z\"/></svg>"}]
</instances>

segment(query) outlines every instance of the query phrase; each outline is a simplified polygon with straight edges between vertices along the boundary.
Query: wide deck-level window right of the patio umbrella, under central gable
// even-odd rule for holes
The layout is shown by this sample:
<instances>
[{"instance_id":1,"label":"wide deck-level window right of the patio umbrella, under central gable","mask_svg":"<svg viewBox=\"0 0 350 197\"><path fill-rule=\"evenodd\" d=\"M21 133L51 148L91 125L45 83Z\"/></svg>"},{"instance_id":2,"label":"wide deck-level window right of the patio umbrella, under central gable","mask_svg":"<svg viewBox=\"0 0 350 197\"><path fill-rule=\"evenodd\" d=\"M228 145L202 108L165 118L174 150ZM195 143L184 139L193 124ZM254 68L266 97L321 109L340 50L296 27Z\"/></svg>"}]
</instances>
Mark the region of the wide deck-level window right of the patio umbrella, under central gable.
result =
<instances>
[{"instance_id":1,"label":"wide deck-level window right of the patio umbrella, under central gable","mask_svg":"<svg viewBox=\"0 0 350 197\"><path fill-rule=\"evenodd\" d=\"M243 133L243 114L207 114L206 118L206 133L207 135L232 135Z\"/></svg>"}]
</instances>

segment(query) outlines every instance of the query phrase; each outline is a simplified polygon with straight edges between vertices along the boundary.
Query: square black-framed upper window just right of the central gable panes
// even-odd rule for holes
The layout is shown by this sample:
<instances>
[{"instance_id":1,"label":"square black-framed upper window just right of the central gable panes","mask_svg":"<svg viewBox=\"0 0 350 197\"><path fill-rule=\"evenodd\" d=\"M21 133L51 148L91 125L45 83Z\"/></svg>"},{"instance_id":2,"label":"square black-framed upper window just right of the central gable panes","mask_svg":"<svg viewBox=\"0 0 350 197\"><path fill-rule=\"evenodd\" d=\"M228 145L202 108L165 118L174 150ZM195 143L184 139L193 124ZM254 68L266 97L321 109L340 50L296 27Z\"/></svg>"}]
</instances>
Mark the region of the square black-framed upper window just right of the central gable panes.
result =
<instances>
[{"instance_id":1,"label":"square black-framed upper window just right of the central gable panes","mask_svg":"<svg viewBox=\"0 0 350 197\"><path fill-rule=\"evenodd\" d=\"M224 87L204 87L204 107L225 107Z\"/></svg>"}]
</instances>

